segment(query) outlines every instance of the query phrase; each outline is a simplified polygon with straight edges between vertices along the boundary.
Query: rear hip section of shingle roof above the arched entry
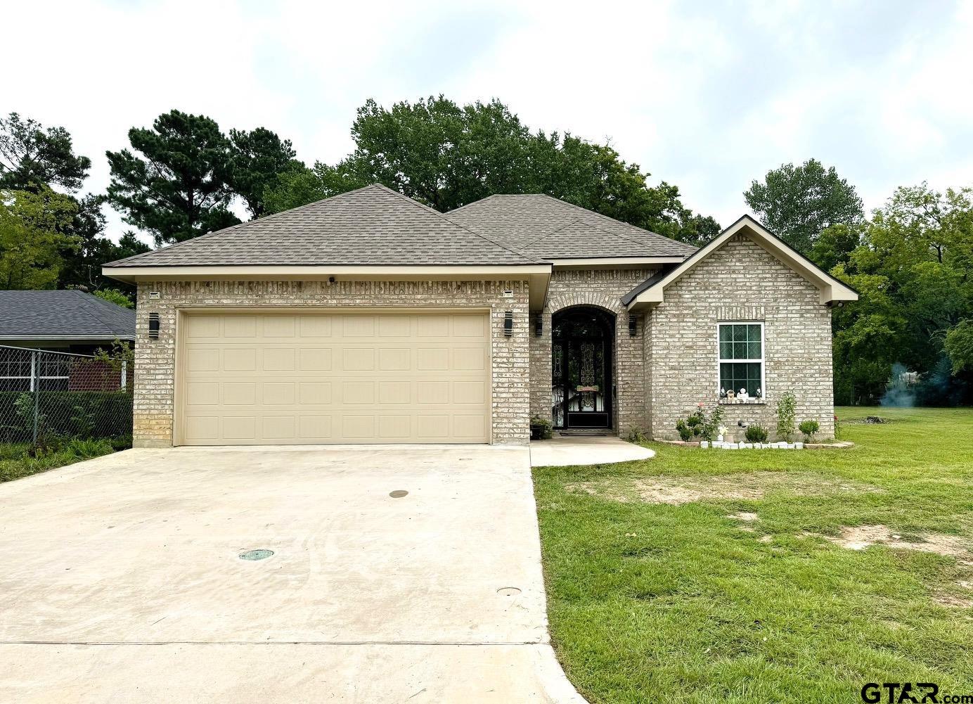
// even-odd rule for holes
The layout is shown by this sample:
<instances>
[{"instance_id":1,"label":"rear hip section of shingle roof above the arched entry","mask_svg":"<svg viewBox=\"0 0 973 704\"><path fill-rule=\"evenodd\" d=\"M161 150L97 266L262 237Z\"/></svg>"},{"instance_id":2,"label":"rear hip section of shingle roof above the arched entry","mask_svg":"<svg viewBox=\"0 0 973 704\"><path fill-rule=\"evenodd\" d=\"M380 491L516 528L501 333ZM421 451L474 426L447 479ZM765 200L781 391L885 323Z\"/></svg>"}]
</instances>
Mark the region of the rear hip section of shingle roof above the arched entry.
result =
<instances>
[{"instance_id":1,"label":"rear hip section of shingle roof above the arched entry","mask_svg":"<svg viewBox=\"0 0 973 704\"><path fill-rule=\"evenodd\" d=\"M544 259L687 257L696 247L544 194L497 195L447 213L450 220Z\"/></svg>"}]
</instances>

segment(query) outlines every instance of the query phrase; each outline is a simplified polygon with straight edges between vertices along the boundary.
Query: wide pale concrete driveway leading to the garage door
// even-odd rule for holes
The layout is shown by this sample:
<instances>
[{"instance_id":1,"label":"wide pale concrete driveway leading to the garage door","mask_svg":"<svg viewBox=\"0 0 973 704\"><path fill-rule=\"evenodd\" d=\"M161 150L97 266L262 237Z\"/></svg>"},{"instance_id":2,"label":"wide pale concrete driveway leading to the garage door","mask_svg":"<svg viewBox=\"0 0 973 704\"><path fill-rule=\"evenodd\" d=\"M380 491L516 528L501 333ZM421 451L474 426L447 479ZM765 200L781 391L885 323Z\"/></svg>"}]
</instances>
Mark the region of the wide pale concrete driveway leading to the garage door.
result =
<instances>
[{"instance_id":1,"label":"wide pale concrete driveway leading to the garage door","mask_svg":"<svg viewBox=\"0 0 973 704\"><path fill-rule=\"evenodd\" d=\"M0 701L583 701L526 448L129 450L0 485L0 561Z\"/></svg>"}]
</instances>

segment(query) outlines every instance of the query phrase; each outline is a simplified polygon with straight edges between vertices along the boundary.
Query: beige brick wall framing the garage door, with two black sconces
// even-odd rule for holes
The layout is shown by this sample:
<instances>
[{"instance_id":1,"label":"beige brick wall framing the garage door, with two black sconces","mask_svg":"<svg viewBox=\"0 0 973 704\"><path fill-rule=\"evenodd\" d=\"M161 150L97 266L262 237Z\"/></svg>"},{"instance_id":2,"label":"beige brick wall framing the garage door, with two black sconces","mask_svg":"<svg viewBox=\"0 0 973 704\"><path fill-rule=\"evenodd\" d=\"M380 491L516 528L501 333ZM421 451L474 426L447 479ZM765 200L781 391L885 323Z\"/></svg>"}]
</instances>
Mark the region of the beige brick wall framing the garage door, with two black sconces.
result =
<instances>
[{"instance_id":1,"label":"beige brick wall framing the garage door, with two black sconces","mask_svg":"<svg viewBox=\"0 0 973 704\"><path fill-rule=\"evenodd\" d=\"M507 298L504 290L513 291ZM149 300L159 291L159 300ZM526 281L164 281L138 287L134 444L172 444L176 317L180 308L212 307L428 307L489 308L492 330L492 439L529 439L529 352ZM514 334L503 334L505 311ZM158 313L158 340L148 338L149 314ZM550 363L550 362L549 362Z\"/></svg>"}]
</instances>

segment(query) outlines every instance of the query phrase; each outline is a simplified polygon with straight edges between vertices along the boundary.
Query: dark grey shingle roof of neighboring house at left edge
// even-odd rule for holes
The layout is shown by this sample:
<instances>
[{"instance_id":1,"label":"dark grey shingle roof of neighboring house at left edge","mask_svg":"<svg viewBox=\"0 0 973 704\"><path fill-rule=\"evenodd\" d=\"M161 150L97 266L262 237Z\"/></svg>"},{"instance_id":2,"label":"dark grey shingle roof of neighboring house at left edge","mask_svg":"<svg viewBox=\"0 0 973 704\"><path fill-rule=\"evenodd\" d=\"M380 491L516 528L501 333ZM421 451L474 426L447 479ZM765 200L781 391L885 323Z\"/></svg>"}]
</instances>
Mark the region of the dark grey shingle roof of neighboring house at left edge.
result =
<instances>
[{"instance_id":1,"label":"dark grey shingle roof of neighboring house at left edge","mask_svg":"<svg viewBox=\"0 0 973 704\"><path fill-rule=\"evenodd\" d=\"M135 312L90 293L0 291L0 340L134 340Z\"/></svg>"}]
</instances>

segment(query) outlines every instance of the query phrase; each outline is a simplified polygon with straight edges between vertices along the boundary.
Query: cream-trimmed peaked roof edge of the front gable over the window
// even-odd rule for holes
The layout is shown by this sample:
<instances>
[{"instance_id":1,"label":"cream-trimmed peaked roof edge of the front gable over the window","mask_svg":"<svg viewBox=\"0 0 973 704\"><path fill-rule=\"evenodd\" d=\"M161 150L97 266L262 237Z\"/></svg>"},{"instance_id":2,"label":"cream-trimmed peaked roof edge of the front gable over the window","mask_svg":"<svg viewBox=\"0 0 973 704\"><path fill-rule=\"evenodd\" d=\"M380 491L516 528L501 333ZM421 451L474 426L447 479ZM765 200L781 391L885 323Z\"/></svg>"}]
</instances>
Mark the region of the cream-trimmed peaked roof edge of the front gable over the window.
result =
<instances>
[{"instance_id":1,"label":"cream-trimmed peaked roof edge of the front gable over the window","mask_svg":"<svg viewBox=\"0 0 973 704\"><path fill-rule=\"evenodd\" d=\"M800 276L817 286L821 292L821 303L834 301L857 301L858 292L843 281L832 277L810 259L778 238L770 230L749 215L743 215L733 225L709 241L681 264L661 269L655 275L635 286L622 297L622 303L629 310L639 310L657 306L664 301L666 287L691 272L700 262L719 249L733 236L743 233L764 247Z\"/></svg>"}]
</instances>

